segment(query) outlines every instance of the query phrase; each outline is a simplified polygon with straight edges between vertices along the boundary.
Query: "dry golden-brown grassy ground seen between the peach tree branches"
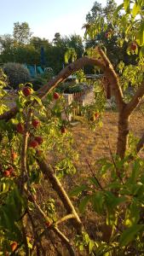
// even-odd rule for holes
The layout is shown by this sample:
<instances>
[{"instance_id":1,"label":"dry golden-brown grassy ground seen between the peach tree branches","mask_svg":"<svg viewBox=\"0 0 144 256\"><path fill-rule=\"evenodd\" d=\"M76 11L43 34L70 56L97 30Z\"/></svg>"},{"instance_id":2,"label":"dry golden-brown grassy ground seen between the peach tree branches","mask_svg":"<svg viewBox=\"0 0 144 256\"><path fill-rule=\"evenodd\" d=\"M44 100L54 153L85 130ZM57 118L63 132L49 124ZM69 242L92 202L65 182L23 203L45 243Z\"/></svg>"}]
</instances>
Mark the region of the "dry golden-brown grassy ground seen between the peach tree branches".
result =
<instances>
[{"instance_id":1,"label":"dry golden-brown grassy ground seen between the peach tree branches","mask_svg":"<svg viewBox=\"0 0 144 256\"><path fill-rule=\"evenodd\" d=\"M71 191L72 188L78 184L86 183L87 178L91 176L89 167L86 160L89 160L89 164L95 171L95 161L103 157L111 158L110 148L112 154L115 153L116 143L118 137L118 113L107 112L103 116L102 128L97 128L95 131L90 131L89 126L84 123L79 123L71 128L74 137L74 148L78 150L79 160L75 162L77 168L76 174L67 176L61 180L67 192ZM141 137L144 131L144 116L141 112L137 111L131 115L130 118L130 132L135 134L136 137ZM45 184L48 191L48 184ZM44 189L44 187L43 187ZM49 190L50 192L51 190ZM54 192L50 192L49 195L55 198L56 207L61 216L64 214L61 202L58 200L57 195ZM79 201L77 198L72 198L72 203L78 210ZM102 219L98 218L91 207L87 207L87 211L84 215L80 214L80 218L83 221L85 230L88 231L91 239L101 239L102 236ZM61 225L61 230L65 231L66 236L71 240L72 238L72 226L67 224ZM98 238L99 237L99 238ZM73 239L73 238L72 238ZM62 252L63 248L60 249ZM50 249L50 255L57 255L55 249L52 252ZM64 250L61 253L63 256L68 255ZM49 253L48 253L49 255ZM84 253L78 253L78 255L86 255Z\"/></svg>"}]
</instances>

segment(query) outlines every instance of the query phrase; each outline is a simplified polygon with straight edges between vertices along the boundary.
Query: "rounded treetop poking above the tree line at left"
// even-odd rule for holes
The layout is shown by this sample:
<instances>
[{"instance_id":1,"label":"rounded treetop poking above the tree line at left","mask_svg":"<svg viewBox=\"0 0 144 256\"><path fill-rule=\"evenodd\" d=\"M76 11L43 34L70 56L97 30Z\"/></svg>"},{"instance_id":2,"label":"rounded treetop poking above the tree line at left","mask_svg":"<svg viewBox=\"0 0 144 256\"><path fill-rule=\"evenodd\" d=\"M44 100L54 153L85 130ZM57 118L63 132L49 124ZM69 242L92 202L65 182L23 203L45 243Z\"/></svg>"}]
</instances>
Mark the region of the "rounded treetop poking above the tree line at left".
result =
<instances>
[{"instance_id":1,"label":"rounded treetop poking above the tree line at left","mask_svg":"<svg viewBox=\"0 0 144 256\"><path fill-rule=\"evenodd\" d=\"M14 23L14 40L20 44L27 44L30 41L32 32L27 22L15 22Z\"/></svg>"}]
</instances>

